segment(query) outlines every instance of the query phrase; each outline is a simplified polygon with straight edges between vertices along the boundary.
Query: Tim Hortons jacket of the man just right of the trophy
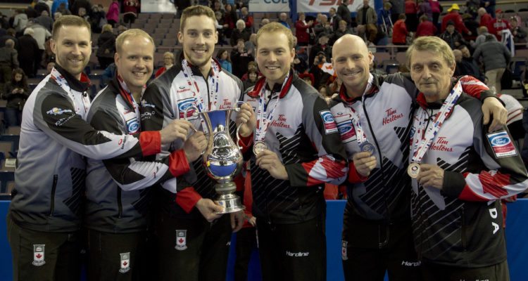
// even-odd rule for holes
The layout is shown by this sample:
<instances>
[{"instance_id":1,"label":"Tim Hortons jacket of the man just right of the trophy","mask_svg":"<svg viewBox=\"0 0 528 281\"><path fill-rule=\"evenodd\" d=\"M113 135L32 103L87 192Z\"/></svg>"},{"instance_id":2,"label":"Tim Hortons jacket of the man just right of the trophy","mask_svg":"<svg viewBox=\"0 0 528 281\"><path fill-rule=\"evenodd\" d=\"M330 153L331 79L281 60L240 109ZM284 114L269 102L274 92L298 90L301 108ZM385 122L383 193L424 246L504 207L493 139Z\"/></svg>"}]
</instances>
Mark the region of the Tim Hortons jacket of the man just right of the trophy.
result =
<instances>
[{"instance_id":1,"label":"Tim Hortons jacket of the man just right of the trophy","mask_svg":"<svg viewBox=\"0 0 528 281\"><path fill-rule=\"evenodd\" d=\"M259 83L263 83L260 80ZM266 89L267 107L277 103L277 89ZM265 134L268 150L286 167L288 181L272 176L255 164L251 154L253 215L273 223L299 223L325 211L322 195L325 183L339 184L346 178L346 154L334 118L318 92L291 74L279 97L275 113ZM259 94L249 89L244 101L258 108Z\"/></svg>"}]
</instances>

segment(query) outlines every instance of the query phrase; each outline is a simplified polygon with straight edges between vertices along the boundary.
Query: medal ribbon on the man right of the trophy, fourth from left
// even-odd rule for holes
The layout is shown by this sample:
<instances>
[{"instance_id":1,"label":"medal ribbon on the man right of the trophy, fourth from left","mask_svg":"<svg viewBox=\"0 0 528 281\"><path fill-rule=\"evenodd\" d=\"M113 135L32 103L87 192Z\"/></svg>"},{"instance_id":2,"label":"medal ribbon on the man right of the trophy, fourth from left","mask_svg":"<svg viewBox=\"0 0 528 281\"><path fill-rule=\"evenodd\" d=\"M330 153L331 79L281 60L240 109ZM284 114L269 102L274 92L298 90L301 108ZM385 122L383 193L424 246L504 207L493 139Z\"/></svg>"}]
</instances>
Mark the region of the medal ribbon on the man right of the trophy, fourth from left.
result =
<instances>
[{"instance_id":1,"label":"medal ribbon on the man right of the trophy, fourth from left","mask_svg":"<svg viewBox=\"0 0 528 281\"><path fill-rule=\"evenodd\" d=\"M284 85L287 84L288 80L290 78L290 72L286 74L286 77L284 78L284 82L282 82L282 87L280 89L279 95L277 95L276 102L273 105L272 109L268 113L267 117L266 115L266 102L265 102L265 91L266 91L266 80L261 79L258 85L258 88L256 91L259 93L259 99L258 99L258 110L257 110L257 129L255 133L255 142L257 141L264 141L264 136L266 135L266 131L268 131L268 126L270 126L271 121L273 119L273 113L275 112L275 108L279 104L280 97L284 95L286 91L288 91L288 87L284 87ZM271 100L270 100L271 102Z\"/></svg>"}]
</instances>

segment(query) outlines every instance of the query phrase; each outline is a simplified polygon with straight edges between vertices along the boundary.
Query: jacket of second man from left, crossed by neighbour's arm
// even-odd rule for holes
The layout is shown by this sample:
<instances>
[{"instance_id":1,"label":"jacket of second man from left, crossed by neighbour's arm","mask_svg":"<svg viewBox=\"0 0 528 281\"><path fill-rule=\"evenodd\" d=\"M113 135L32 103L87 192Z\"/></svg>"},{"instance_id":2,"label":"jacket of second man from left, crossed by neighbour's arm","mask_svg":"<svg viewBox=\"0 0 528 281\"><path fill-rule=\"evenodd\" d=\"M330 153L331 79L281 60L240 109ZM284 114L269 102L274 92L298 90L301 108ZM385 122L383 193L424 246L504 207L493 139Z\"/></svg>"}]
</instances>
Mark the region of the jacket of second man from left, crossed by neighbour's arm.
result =
<instances>
[{"instance_id":1,"label":"jacket of second man from left, crossed by neighbour's arm","mask_svg":"<svg viewBox=\"0 0 528 281\"><path fill-rule=\"evenodd\" d=\"M122 89L115 76L92 103L87 121L95 129L118 135L136 135L139 105ZM149 187L189 171L183 150L146 162L128 159L87 159L84 226L103 232L132 233L146 229Z\"/></svg>"}]
</instances>

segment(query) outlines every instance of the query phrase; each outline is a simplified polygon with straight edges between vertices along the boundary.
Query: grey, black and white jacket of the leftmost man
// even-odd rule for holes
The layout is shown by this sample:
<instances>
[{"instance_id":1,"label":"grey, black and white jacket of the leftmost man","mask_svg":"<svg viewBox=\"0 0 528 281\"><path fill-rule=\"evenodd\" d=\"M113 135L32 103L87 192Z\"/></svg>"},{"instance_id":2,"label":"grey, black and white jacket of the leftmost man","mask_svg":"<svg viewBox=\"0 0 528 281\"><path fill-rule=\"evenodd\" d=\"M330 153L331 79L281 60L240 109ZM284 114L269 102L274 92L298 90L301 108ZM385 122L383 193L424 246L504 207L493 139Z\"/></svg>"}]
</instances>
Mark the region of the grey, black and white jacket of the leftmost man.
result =
<instances>
[{"instance_id":1,"label":"grey, black and white jacket of the leftmost man","mask_svg":"<svg viewBox=\"0 0 528 281\"><path fill-rule=\"evenodd\" d=\"M61 67L56 69L68 81L70 93L48 75L27 99L9 208L13 221L23 228L68 232L80 228L82 155L94 159L152 155L160 151L161 138L158 132L137 138L96 131L83 120L90 106L86 75L78 81Z\"/></svg>"}]
</instances>

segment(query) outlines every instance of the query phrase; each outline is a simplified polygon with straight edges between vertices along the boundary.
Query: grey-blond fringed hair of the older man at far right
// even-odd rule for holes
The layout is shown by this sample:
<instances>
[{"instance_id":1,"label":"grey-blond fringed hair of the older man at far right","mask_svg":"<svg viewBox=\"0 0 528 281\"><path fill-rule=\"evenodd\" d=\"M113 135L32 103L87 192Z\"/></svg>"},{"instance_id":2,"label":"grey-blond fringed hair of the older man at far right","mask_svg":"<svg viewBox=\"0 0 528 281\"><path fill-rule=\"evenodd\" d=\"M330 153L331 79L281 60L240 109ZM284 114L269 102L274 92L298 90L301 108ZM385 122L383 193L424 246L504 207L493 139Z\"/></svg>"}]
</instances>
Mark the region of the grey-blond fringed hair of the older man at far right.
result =
<instances>
[{"instance_id":1,"label":"grey-blond fringed hair of the older man at far right","mask_svg":"<svg viewBox=\"0 0 528 281\"><path fill-rule=\"evenodd\" d=\"M406 60L407 67L410 69L410 55L413 51L430 51L432 53L439 53L442 58L446 61L447 65L451 66L455 64L455 55L451 47L440 37L435 36L424 36L418 37L413 41L413 44L407 49Z\"/></svg>"}]
</instances>

